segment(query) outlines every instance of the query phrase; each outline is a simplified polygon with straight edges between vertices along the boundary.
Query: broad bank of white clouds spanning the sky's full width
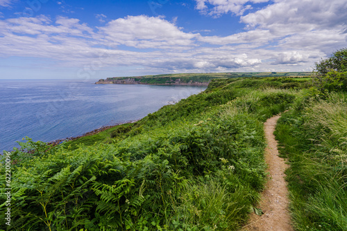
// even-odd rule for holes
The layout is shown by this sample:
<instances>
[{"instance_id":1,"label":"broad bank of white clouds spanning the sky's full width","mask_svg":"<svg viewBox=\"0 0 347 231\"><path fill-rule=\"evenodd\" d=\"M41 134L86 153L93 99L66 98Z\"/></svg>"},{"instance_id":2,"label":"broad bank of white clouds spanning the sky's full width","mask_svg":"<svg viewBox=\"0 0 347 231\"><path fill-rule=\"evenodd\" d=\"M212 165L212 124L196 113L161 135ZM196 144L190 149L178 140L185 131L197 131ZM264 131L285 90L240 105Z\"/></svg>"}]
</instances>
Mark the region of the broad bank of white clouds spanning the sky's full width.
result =
<instances>
[{"instance_id":1,"label":"broad bank of white clouds spanning the sky's full width","mask_svg":"<svg viewBox=\"0 0 347 231\"><path fill-rule=\"evenodd\" d=\"M237 8L225 10L226 6L261 1L201 0L196 8L209 13L223 6L220 13L237 14ZM203 36L180 28L175 18L146 15L99 27L71 17L0 19L0 56L49 58L60 66L136 66L152 73L311 71L318 59L346 46L346 4L276 0L240 17L245 30L228 36Z\"/></svg>"}]
</instances>

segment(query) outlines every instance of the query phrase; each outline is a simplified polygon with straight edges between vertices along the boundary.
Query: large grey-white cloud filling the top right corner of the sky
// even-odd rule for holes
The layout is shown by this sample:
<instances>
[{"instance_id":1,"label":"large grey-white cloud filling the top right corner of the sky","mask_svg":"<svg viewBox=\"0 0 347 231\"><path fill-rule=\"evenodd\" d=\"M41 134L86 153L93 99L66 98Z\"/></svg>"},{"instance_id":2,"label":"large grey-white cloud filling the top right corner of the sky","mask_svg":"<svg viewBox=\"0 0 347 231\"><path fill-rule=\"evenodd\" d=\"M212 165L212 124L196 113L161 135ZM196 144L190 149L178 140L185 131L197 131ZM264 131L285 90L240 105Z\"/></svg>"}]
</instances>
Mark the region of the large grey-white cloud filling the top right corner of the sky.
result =
<instances>
[{"instance_id":1,"label":"large grey-white cloud filling the top right corner of the sky","mask_svg":"<svg viewBox=\"0 0 347 231\"><path fill-rule=\"evenodd\" d=\"M284 49L323 50L345 46L347 2L283 0L241 17L249 30L269 30Z\"/></svg>"}]
</instances>

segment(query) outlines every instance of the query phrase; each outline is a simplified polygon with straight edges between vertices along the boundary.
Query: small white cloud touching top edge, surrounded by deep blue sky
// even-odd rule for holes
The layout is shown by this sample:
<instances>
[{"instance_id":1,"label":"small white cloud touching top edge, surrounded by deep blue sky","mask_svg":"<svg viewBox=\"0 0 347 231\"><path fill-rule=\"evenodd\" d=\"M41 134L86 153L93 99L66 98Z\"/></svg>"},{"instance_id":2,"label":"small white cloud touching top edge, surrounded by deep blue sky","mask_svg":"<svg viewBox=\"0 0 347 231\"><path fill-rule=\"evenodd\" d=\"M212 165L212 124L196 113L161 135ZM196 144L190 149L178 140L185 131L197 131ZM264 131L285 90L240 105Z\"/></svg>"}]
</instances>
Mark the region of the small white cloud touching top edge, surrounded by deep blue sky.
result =
<instances>
[{"instance_id":1,"label":"small white cloud touching top edge, surrounded by deep blue sky","mask_svg":"<svg viewBox=\"0 0 347 231\"><path fill-rule=\"evenodd\" d=\"M247 3L264 3L269 0L195 0L196 9L206 15L219 17L226 13L243 15L246 10L252 8Z\"/></svg>"}]
</instances>

